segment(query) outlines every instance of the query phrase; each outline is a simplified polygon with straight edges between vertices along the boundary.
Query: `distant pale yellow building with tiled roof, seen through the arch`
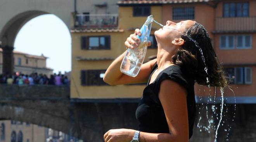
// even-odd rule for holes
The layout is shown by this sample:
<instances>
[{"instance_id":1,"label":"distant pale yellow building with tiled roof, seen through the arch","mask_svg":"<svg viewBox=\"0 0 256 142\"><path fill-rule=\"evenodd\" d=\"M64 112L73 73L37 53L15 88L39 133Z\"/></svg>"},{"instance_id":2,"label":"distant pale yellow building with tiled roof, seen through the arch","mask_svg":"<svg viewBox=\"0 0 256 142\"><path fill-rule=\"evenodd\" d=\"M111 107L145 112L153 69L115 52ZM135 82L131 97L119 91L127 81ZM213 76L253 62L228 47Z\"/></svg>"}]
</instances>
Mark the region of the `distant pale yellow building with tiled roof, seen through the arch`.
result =
<instances>
[{"instance_id":1,"label":"distant pale yellow building with tiled roof, seen through the arch","mask_svg":"<svg viewBox=\"0 0 256 142\"><path fill-rule=\"evenodd\" d=\"M14 56L14 72L20 74L31 74L31 73L42 73L50 76L53 69L46 67L47 57L30 55L19 51L13 51ZM0 48L0 74L2 74L2 64L3 64L3 51Z\"/></svg>"}]
</instances>

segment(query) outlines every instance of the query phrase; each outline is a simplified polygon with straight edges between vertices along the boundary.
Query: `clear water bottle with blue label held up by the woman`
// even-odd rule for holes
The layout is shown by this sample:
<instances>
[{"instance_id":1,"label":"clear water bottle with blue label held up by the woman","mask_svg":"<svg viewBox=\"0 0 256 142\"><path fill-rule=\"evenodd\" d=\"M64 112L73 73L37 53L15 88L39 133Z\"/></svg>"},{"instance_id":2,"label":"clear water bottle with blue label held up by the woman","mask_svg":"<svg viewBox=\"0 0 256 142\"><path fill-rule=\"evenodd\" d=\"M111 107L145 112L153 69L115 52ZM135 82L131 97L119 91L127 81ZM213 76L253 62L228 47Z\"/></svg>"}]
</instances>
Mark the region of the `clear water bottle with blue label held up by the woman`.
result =
<instances>
[{"instance_id":1,"label":"clear water bottle with blue label held up by the woman","mask_svg":"<svg viewBox=\"0 0 256 142\"><path fill-rule=\"evenodd\" d=\"M150 15L147 17L146 22L140 29L141 35L137 35L138 39L140 39L140 44L138 47L134 49L127 49L120 67L120 71L122 73L131 77L136 77L138 75L147 52L147 42L149 39L152 22L153 16Z\"/></svg>"}]
</instances>

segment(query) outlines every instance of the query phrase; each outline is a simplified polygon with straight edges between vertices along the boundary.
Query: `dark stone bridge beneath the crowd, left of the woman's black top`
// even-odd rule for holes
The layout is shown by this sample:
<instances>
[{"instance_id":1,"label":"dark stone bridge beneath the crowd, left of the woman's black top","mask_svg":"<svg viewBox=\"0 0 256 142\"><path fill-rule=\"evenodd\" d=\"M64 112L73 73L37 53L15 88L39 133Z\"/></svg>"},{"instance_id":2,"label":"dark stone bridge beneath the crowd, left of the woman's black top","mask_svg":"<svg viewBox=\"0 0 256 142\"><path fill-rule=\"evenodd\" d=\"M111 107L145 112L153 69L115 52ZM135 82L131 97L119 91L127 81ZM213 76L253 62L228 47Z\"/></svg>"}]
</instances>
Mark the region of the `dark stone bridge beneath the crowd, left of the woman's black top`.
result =
<instances>
[{"instance_id":1,"label":"dark stone bridge beneath the crowd, left of the woman's black top","mask_svg":"<svg viewBox=\"0 0 256 142\"><path fill-rule=\"evenodd\" d=\"M137 129L137 99L79 101L69 92L69 86L0 85L0 120L53 128L85 142L103 142L111 128Z\"/></svg>"}]
</instances>

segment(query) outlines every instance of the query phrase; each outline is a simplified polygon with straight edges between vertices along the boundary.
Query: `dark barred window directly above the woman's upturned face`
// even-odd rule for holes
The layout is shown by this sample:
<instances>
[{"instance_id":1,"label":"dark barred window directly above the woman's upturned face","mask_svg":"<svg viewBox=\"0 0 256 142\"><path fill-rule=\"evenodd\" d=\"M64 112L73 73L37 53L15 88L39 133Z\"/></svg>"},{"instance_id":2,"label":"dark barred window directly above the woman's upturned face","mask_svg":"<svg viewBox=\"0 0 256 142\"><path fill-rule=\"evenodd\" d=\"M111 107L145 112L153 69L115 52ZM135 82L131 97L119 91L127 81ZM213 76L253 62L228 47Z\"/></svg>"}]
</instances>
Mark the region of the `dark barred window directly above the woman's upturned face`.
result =
<instances>
[{"instance_id":1,"label":"dark barred window directly above the woman's upturned face","mask_svg":"<svg viewBox=\"0 0 256 142\"><path fill-rule=\"evenodd\" d=\"M194 7L176 7L173 8L173 20L195 19Z\"/></svg>"}]
</instances>

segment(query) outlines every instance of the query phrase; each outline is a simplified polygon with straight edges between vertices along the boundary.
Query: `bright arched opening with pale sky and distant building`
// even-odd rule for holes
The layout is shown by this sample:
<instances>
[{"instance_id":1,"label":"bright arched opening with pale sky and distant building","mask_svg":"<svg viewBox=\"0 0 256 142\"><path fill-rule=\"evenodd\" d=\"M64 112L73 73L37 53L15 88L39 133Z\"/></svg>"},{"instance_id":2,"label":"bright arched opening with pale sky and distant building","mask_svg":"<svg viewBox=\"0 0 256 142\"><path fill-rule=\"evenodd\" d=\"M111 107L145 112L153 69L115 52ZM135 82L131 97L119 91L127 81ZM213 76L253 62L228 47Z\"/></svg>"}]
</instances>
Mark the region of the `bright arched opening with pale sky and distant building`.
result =
<instances>
[{"instance_id":1,"label":"bright arched opening with pale sky and distant building","mask_svg":"<svg viewBox=\"0 0 256 142\"><path fill-rule=\"evenodd\" d=\"M14 52L15 72L28 75L42 73L49 77L52 74L49 69L57 74L59 71L71 71L71 35L64 22L53 14L40 15L24 24L16 36L14 47L15 51L33 57L47 57L43 63L42 59L31 56L18 58ZM28 68L33 68L30 73Z\"/></svg>"}]
</instances>

